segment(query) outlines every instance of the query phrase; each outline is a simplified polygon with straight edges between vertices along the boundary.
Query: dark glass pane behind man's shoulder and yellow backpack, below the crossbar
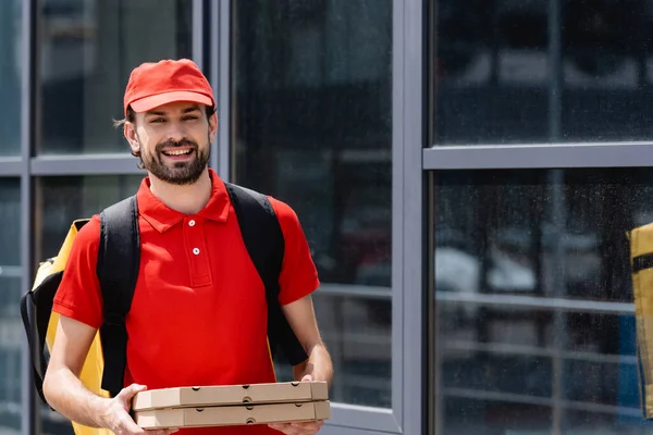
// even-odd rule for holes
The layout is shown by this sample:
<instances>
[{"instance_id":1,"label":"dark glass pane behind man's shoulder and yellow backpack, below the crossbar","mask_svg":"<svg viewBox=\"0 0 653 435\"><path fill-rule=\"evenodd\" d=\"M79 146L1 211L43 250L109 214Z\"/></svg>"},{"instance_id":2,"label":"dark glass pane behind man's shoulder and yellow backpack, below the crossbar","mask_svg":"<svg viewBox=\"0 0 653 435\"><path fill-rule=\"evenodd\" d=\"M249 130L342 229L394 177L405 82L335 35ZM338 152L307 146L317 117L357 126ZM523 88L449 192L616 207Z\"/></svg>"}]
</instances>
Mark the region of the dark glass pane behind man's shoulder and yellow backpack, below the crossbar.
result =
<instances>
[{"instance_id":1,"label":"dark glass pane behind man's shoulder and yellow backpack, below the crossbar","mask_svg":"<svg viewBox=\"0 0 653 435\"><path fill-rule=\"evenodd\" d=\"M56 256L71 223L98 214L133 195L145 175L53 176L39 178L36 189L36 261ZM17 311L16 311L17 312ZM72 435L71 423L42 406L44 433Z\"/></svg>"}]
</instances>

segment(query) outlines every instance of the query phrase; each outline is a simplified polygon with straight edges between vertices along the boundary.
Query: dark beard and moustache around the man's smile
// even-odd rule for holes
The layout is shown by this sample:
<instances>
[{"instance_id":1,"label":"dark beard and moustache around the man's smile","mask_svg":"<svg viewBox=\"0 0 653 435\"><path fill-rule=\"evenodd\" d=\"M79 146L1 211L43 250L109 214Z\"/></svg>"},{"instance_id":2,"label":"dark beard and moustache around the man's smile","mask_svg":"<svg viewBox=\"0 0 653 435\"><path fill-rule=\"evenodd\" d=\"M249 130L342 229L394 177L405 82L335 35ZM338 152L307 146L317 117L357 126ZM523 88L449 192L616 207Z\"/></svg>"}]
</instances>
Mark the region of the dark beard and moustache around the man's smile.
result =
<instances>
[{"instance_id":1,"label":"dark beard and moustache around the man's smile","mask_svg":"<svg viewBox=\"0 0 653 435\"><path fill-rule=\"evenodd\" d=\"M173 162L172 166L163 162L163 149L176 147L192 147L192 159L182 162ZM141 147L141 150L144 148ZM200 148L198 144L190 139L165 140L157 144L155 152L143 152L143 164L145 169L161 179L162 182L175 184L178 186L194 184L200 177L209 163L210 140L207 140L205 147Z\"/></svg>"}]
</instances>

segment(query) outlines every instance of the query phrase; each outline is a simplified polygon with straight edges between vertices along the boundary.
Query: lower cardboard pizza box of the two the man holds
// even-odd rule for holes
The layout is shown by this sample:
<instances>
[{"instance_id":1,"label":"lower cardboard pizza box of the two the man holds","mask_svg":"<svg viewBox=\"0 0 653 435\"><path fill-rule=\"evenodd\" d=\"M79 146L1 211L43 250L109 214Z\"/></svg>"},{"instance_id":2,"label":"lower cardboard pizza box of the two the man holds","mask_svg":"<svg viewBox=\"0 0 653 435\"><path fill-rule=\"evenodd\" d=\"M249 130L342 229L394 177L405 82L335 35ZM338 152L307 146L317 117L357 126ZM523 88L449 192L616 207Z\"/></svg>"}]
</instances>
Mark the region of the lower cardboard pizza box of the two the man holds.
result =
<instances>
[{"instance_id":1,"label":"lower cardboard pizza box of the two the man holds","mask_svg":"<svg viewBox=\"0 0 653 435\"><path fill-rule=\"evenodd\" d=\"M238 405L138 411L134 421L145 430L313 422L331 418L328 400L297 403Z\"/></svg>"}]
</instances>

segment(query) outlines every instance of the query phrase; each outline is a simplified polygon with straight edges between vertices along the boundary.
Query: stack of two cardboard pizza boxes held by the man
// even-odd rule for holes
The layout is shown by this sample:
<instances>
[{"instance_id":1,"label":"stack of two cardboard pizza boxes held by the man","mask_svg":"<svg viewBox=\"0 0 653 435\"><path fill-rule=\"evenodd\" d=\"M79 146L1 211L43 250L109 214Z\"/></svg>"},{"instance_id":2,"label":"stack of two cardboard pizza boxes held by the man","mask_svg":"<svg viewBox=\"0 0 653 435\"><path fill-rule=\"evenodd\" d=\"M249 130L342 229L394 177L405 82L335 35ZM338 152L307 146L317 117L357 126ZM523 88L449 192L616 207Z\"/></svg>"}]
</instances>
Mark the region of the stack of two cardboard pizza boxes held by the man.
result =
<instances>
[{"instance_id":1,"label":"stack of two cardboard pizza boxes held by the man","mask_svg":"<svg viewBox=\"0 0 653 435\"><path fill-rule=\"evenodd\" d=\"M331 417L325 382L151 389L132 402L146 430L313 422Z\"/></svg>"}]
</instances>

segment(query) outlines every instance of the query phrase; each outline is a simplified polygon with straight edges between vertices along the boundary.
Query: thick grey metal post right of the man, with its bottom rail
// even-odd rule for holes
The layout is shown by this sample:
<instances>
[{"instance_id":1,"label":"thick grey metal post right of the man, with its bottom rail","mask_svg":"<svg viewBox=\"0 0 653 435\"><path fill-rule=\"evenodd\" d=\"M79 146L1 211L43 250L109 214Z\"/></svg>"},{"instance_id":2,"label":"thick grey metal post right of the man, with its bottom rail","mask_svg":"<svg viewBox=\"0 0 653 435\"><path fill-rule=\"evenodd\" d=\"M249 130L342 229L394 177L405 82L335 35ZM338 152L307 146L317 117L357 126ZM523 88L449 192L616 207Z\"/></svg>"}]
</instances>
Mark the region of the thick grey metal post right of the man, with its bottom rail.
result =
<instances>
[{"instance_id":1,"label":"thick grey metal post right of the man, with its bottom rail","mask_svg":"<svg viewBox=\"0 0 653 435\"><path fill-rule=\"evenodd\" d=\"M333 403L326 434L335 433L332 425L347 434L426 431L423 8L420 0L393 1L392 408Z\"/></svg>"}]
</instances>

